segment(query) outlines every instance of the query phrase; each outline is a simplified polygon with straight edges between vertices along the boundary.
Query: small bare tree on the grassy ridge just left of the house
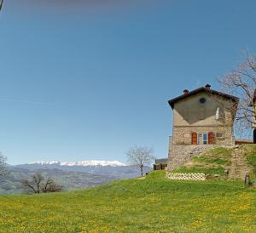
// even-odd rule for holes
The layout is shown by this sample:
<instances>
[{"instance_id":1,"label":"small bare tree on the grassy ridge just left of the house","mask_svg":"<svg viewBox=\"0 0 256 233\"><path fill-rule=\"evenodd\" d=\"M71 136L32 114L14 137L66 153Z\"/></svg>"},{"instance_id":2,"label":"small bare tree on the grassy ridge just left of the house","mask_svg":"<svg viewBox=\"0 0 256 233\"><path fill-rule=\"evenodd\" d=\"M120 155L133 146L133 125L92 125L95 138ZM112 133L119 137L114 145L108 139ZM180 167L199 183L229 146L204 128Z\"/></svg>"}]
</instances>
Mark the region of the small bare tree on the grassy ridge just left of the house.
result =
<instances>
[{"instance_id":1,"label":"small bare tree on the grassy ridge just left of the house","mask_svg":"<svg viewBox=\"0 0 256 233\"><path fill-rule=\"evenodd\" d=\"M143 177L143 168L154 160L154 151L146 146L134 146L126 152L127 160L135 165Z\"/></svg>"}]
</instances>

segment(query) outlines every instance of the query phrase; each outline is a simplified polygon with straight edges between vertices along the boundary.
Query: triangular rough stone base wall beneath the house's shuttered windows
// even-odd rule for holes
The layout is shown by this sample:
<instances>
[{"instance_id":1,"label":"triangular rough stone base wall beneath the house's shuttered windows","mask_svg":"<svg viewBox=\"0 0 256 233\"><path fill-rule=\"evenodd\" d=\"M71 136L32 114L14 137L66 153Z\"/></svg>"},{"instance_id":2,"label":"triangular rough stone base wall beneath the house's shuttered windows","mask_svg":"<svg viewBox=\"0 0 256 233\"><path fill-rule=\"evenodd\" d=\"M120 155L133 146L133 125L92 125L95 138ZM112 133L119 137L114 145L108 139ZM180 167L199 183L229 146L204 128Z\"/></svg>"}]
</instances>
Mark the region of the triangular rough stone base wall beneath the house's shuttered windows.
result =
<instances>
[{"instance_id":1,"label":"triangular rough stone base wall beneath the house's shuttered windows","mask_svg":"<svg viewBox=\"0 0 256 233\"><path fill-rule=\"evenodd\" d=\"M169 148L167 170L172 171L174 168L189 162L193 156L216 147L216 145L171 145Z\"/></svg>"}]
</instances>

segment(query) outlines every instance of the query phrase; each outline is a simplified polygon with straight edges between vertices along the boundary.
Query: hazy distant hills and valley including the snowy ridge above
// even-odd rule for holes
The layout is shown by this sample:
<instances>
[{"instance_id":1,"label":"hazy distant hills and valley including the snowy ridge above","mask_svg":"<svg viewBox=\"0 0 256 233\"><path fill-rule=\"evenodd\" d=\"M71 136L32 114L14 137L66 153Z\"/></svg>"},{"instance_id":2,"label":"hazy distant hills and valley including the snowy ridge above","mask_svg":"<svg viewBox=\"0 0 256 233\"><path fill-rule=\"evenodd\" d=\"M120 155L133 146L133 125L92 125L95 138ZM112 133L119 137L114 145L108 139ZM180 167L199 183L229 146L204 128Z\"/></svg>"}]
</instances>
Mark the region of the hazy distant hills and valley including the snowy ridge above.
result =
<instances>
[{"instance_id":1,"label":"hazy distant hills and valley including the snowy ridge above","mask_svg":"<svg viewBox=\"0 0 256 233\"><path fill-rule=\"evenodd\" d=\"M145 172L151 168L145 167ZM8 166L8 173L0 177L0 195L22 193L22 179L33 173L55 179L65 190L79 190L102 185L115 179L131 179L140 175L137 167L118 161L32 162Z\"/></svg>"}]
</instances>

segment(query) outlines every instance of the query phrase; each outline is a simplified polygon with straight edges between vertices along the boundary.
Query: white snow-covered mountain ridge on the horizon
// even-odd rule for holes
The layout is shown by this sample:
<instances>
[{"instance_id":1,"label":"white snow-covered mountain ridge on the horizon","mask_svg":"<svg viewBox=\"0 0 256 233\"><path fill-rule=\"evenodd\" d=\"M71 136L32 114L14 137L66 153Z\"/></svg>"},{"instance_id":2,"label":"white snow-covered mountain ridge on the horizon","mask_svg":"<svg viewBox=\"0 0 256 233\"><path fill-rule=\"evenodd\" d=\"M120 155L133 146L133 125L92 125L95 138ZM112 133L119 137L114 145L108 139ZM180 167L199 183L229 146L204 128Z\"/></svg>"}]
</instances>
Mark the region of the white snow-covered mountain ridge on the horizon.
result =
<instances>
[{"instance_id":1,"label":"white snow-covered mountain ridge on the horizon","mask_svg":"<svg viewBox=\"0 0 256 233\"><path fill-rule=\"evenodd\" d=\"M38 162L31 162L28 163L29 165L59 165L59 166L102 166L102 167L122 167L126 166L125 163L119 162L119 161L105 161L105 160L84 160L79 162L58 162L58 161L51 161L51 162L44 162L44 161L38 161Z\"/></svg>"}]
</instances>

